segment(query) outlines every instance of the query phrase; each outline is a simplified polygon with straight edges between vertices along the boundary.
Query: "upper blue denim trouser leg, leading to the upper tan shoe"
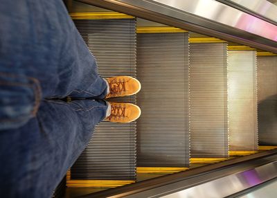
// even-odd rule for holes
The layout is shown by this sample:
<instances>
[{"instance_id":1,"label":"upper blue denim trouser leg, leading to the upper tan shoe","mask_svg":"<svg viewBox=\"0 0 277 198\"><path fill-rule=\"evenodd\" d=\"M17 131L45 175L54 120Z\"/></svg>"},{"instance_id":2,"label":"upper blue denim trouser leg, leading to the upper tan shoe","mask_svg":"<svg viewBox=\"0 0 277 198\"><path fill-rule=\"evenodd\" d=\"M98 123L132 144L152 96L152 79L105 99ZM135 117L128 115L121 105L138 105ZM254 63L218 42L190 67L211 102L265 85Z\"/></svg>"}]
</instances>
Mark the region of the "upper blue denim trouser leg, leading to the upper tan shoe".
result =
<instances>
[{"instance_id":1,"label":"upper blue denim trouser leg, leading to the upper tan shoe","mask_svg":"<svg viewBox=\"0 0 277 198\"><path fill-rule=\"evenodd\" d=\"M0 73L34 78L42 98L105 98L107 84L62 0L1 1Z\"/></svg>"}]
</instances>

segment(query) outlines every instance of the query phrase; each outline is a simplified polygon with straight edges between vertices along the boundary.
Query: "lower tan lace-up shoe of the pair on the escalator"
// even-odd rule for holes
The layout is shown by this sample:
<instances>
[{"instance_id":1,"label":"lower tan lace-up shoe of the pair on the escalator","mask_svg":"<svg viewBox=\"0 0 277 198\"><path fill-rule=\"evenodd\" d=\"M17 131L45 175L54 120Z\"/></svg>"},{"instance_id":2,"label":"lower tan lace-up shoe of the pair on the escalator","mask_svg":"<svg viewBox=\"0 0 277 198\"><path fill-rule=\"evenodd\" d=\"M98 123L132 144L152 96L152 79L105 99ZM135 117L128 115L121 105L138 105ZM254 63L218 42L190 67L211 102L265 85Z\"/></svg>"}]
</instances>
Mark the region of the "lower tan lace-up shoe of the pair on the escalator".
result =
<instances>
[{"instance_id":1,"label":"lower tan lace-up shoe of the pair on the escalator","mask_svg":"<svg viewBox=\"0 0 277 198\"><path fill-rule=\"evenodd\" d=\"M141 116L141 109L131 103L109 102L111 114L105 119L112 123L131 123Z\"/></svg>"}]
</instances>

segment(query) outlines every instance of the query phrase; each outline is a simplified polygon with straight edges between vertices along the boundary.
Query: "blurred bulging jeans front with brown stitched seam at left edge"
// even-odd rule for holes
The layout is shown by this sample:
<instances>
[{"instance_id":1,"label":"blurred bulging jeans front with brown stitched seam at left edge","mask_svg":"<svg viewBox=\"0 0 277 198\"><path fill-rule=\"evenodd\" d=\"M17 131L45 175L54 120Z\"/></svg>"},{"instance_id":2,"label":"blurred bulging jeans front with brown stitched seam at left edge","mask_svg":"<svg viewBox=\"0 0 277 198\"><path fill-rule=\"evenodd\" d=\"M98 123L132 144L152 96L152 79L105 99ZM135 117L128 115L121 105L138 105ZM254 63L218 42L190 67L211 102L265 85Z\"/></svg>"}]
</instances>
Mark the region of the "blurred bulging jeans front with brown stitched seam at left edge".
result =
<instances>
[{"instance_id":1,"label":"blurred bulging jeans front with brown stitched seam at left edge","mask_svg":"<svg viewBox=\"0 0 277 198\"><path fill-rule=\"evenodd\" d=\"M40 100L37 79L0 73L0 130L25 125L37 113Z\"/></svg>"}]
</instances>

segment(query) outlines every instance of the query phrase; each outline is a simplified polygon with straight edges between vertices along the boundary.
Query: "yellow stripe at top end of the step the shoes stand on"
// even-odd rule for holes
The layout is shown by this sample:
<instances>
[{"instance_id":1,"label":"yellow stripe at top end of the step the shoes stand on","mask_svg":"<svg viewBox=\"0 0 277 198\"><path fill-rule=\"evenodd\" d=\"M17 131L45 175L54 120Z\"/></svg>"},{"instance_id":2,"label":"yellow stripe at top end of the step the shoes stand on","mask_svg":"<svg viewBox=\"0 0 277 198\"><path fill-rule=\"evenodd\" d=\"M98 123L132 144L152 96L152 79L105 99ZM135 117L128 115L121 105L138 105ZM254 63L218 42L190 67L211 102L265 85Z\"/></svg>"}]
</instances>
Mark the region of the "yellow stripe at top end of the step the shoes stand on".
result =
<instances>
[{"instance_id":1,"label":"yellow stripe at top end of the step the shoes stand on","mask_svg":"<svg viewBox=\"0 0 277 198\"><path fill-rule=\"evenodd\" d=\"M71 12L69 15L72 19L134 19L120 12Z\"/></svg>"}]
</instances>

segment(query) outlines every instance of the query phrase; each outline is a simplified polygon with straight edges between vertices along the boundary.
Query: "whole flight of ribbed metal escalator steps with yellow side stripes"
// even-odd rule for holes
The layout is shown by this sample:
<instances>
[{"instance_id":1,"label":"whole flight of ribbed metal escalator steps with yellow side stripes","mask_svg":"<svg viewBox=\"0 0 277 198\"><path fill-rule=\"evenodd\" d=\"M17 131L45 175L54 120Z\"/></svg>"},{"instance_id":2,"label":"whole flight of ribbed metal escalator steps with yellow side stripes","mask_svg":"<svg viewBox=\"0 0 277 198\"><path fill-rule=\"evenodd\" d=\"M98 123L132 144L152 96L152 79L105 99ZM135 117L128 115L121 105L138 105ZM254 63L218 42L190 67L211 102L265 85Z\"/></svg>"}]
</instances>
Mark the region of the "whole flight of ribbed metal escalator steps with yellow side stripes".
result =
<instances>
[{"instance_id":1,"label":"whole flight of ribbed metal escalator steps with yellow side stripes","mask_svg":"<svg viewBox=\"0 0 277 198\"><path fill-rule=\"evenodd\" d=\"M274 163L276 151L261 150L277 145L276 114L269 111L277 88L270 89L274 80L267 82L276 75L275 53L79 1L67 5L100 75L129 75L142 84L136 96L110 100L137 104L142 114L132 123L101 122L53 197L116 196L116 189L125 197L132 195L132 185L134 197L162 197L176 189L158 196L161 186L193 174L219 174L220 168L268 156ZM135 195L150 187L157 189Z\"/></svg>"}]
</instances>

